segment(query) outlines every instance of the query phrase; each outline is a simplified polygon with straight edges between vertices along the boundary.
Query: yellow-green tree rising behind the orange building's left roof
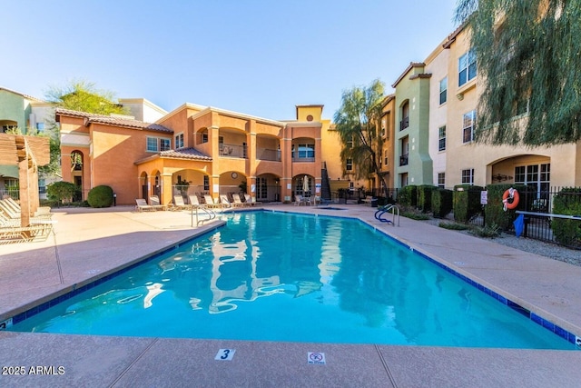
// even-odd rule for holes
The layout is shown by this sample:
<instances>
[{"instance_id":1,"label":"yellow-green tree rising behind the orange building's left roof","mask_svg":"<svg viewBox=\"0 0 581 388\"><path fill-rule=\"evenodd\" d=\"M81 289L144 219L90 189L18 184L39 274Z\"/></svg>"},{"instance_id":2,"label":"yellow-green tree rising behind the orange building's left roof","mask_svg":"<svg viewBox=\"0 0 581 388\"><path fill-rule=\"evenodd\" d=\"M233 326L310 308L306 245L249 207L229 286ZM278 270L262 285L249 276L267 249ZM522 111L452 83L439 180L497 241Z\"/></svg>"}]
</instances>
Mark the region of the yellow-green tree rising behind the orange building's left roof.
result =
<instances>
[{"instance_id":1,"label":"yellow-green tree rising behind the orange building's left roof","mask_svg":"<svg viewBox=\"0 0 581 388\"><path fill-rule=\"evenodd\" d=\"M123 106L114 103L112 92L99 90L93 83L86 81L72 81L64 87L51 86L44 96L54 107L89 114L127 114ZM54 120L49 120L46 127L50 135L51 163L39 167L39 170L45 174L61 176L59 126Z\"/></svg>"}]
</instances>

